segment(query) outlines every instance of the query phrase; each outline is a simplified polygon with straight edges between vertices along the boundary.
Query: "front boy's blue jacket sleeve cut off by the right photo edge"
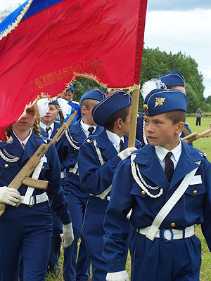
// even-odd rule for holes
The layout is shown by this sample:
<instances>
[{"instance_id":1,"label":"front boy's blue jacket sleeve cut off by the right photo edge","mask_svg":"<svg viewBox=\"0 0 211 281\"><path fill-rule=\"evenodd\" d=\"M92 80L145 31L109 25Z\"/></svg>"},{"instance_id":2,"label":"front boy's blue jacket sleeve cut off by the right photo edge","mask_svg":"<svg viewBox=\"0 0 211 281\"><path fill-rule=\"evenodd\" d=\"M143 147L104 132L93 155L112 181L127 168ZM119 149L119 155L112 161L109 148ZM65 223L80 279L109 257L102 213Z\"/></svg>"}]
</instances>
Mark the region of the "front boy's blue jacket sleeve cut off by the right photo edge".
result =
<instances>
[{"instance_id":1,"label":"front boy's blue jacket sleeve cut off by the right photo edge","mask_svg":"<svg viewBox=\"0 0 211 281\"><path fill-rule=\"evenodd\" d=\"M204 185L206 189L205 193L205 200L204 200L204 206L203 206L203 215L204 215L204 221L201 225L203 235L205 237L205 240L207 242L207 246L211 251L211 164L210 162L207 162L207 167L205 168L204 172Z\"/></svg>"}]
</instances>

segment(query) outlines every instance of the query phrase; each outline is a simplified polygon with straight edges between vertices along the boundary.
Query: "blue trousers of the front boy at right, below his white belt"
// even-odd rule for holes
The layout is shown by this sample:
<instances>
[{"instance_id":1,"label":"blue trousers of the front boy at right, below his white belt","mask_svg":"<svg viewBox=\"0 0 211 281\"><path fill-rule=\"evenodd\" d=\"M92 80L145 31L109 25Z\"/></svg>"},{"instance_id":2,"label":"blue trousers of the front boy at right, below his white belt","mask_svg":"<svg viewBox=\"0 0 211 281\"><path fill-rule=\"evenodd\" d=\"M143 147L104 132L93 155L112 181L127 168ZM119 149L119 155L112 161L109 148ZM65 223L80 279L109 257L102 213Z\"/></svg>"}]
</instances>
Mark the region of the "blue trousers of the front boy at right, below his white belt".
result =
<instances>
[{"instance_id":1,"label":"blue trousers of the front boy at right, below his white belt","mask_svg":"<svg viewBox=\"0 0 211 281\"><path fill-rule=\"evenodd\" d=\"M132 281L199 281L200 240L193 235L164 242L135 233L132 242Z\"/></svg>"}]
</instances>

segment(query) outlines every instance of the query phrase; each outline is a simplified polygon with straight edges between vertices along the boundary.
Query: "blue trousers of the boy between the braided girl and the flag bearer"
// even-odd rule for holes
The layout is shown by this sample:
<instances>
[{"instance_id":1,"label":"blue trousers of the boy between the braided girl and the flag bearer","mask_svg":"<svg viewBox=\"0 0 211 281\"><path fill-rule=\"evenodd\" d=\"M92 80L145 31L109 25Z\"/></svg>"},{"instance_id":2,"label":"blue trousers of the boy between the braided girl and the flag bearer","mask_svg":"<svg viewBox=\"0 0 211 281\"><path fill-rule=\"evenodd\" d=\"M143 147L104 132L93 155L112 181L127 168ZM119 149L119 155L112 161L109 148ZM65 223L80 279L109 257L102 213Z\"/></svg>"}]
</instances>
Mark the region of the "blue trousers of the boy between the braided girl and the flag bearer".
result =
<instances>
[{"instance_id":1,"label":"blue trousers of the boy between the braided girl and the flag bearer","mask_svg":"<svg viewBox=\"0 0 211 281\"><path fill-rule=\"evenodd\" d=\"M63 277L65 281L87 281L90 276L90 260L82 237L82 225L87 200L82 200L82 198L77 197L67 189L65 189L65 197L68 200L68 209L72 218L74 241L70 247L64 249ZM81 243L77 258L79 237L81 237Z\"/></svg>"}]
</instances>

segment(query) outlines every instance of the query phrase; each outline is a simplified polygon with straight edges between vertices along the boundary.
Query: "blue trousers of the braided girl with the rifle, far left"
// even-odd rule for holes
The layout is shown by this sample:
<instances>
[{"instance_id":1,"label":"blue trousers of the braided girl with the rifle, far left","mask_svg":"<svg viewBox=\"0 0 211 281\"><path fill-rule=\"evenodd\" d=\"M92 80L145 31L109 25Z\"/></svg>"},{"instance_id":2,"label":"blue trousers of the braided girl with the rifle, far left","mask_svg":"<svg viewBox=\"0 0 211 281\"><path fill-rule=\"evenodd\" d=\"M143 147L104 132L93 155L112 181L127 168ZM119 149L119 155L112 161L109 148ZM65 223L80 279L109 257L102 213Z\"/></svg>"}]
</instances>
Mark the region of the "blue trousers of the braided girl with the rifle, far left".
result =
<instances>
[{"instance_id":1,"label":"blue trousers of the braided girl with the rifle, far left","mask_svg":"<svg viewBox=\"0 0 211 281\"><path fill-rule=\"evenodd\" d=\"M44 281L52 239L52 214L44 202L6 207L0 218L0 280L18 280L20 250L23 280Z\"/></svg>"}]
</instances>

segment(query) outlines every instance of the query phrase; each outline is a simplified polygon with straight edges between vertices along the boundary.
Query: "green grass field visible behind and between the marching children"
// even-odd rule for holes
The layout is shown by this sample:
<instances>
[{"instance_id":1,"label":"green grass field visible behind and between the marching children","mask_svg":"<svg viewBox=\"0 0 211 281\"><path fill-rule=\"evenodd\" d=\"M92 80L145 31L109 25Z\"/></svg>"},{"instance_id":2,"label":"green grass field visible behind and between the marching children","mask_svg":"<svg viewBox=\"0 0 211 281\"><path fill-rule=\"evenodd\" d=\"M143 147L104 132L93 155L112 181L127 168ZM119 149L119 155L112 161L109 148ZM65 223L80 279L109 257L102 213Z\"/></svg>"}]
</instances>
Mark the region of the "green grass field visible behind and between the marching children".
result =
<instances>
[{"instance_id":1,"label":"green grass field visible behind and between the marching children","mask_svg":"<svg viewBox=\"0 0 211 281\"><path fill-rule=\"evenodd\" d=\"M196 117L187 117L186 122L188 122L191 131L193 133L194 132L201 133L202 131L210 129L211 117L203 117L201 120L201 126L196 126ZM193 142L193 146L205 152L207 154L208 160L210 161L209 157L211 157L211 138L200 138L197 141ZM196 234L198 235L200 241L202 242L202 268L200 273L200 281L211 281L211 254L207 248L207 244L201 233L200 226L196 226ZM62 267L63 267L63 255L61 255L60 257L61 272L60 272L60 276L56 278L56 280L58 281L63 281ZM128 273L130 273L129 256L127 259L126 267ZM55 279L53 279L52 277L46 278L46 281L51 281L51 280L55 280Z\"/></svg>"}]
</instances>

